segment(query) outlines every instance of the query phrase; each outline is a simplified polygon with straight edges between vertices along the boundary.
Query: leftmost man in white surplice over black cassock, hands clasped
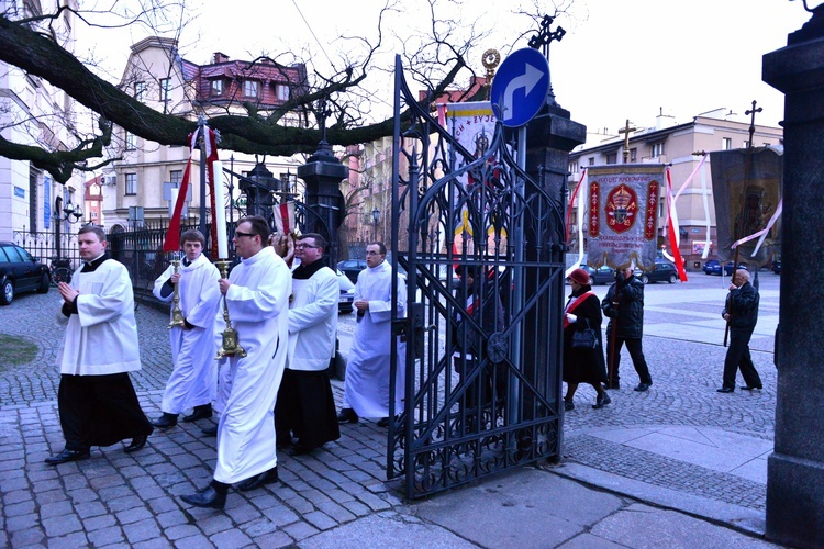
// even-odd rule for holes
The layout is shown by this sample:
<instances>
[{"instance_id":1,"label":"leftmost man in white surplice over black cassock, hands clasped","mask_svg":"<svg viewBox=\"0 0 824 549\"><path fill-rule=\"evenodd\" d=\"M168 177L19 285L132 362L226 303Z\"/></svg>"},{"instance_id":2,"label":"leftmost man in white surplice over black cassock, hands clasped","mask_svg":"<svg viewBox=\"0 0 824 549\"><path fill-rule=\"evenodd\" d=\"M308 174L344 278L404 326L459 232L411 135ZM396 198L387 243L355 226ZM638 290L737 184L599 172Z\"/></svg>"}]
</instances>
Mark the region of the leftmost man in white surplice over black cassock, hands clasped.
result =
<instances>
[{"instance_id":1,"label":"leftmost man in white surplice over black cassock, hands clasped","mask_svg":"<svg viewBox=\"0 0 824 549\"><path fill-rule=\"evenodd\" d=\"M46 463L89 457L92 446L131 438L126 452L140 450L152 434L129 372L141 369L134 294L126 268L105 253L105 233L83 226L77 245L83 265L60 282L58 324L66 336L57 355L57 406L66 447Z\"/></svg>"}]
</instances>

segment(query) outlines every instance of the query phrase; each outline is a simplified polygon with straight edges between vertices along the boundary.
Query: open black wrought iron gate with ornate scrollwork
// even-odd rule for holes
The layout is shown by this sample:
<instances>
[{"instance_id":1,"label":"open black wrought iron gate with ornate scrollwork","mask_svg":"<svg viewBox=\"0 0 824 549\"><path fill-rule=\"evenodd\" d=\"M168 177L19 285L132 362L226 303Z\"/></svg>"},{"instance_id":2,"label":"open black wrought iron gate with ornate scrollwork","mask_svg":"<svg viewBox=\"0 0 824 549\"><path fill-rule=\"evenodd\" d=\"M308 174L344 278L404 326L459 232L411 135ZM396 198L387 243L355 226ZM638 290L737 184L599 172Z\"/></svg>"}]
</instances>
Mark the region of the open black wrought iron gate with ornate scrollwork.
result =
<instances>
[{"instance_id":1,"label":"open black wrought iron gate with ornate scrollwork","mask_svg":"<svg viewBox=\"0 0 824 549\"><path fill-rule=\"evenodd\" d=\"M559 457L564 200L517 167L510 134L499 124L475 156L396 60L392 260L409 313L393 320L404 406L387 472L408 497Z\"/></svg>"}]
</instances>

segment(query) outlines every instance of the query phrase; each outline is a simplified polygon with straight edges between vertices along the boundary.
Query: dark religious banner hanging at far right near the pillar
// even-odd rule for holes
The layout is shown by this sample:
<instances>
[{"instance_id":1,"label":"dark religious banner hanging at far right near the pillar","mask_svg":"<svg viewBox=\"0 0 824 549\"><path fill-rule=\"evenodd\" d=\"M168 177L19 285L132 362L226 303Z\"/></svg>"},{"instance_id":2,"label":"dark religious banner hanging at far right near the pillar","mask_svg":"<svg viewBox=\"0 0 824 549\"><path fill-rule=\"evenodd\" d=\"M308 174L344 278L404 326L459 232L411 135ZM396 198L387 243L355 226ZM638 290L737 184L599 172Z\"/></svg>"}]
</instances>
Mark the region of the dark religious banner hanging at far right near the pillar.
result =
<instances>
[{"instance_id":1,"label":"dark religious banner hanging at far right near the pillar","mask_svg":"<svg viewBox=\"0 0 824 549\"><path fill-rule=\"evenodd\" d=\"M710 153L712 194L715 201L717 254L722 261L733 258L733 243L766 229L781 202L783 157L773 147L753 147ZM756 238L738 246L738 261L764 266L781 253L781 223L761 235L755 257Z\"/></svg>"}]
</instances>

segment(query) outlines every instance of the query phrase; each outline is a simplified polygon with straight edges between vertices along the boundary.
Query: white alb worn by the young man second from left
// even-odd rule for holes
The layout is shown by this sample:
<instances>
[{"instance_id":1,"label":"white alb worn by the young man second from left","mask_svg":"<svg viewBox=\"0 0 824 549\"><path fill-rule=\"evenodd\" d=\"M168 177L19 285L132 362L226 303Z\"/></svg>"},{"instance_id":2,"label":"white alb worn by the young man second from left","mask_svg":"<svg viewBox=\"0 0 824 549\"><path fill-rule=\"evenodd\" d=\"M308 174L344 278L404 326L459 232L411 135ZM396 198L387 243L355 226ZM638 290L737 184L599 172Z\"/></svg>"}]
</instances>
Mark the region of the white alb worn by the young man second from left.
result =
<instances>
[{"instance_id":1,"label":"white alb worn by the young man second from left","mask_svg":"<svg viewBox=\"0 0 824 549\"><path fill-rule=\"evenodd\" d=\"M167 414L211 404L216 388L214 315L221 299L220 272L203 254L189 265L181 264L179 271L180 310L194 327L175 326L169 330L174 369L160 404L160 410ZM164 296L163 287L174 272L174 266L169 266L155 280L153 292L158 300L172 301L174 291Z\"/></svg>"}]
</instances>

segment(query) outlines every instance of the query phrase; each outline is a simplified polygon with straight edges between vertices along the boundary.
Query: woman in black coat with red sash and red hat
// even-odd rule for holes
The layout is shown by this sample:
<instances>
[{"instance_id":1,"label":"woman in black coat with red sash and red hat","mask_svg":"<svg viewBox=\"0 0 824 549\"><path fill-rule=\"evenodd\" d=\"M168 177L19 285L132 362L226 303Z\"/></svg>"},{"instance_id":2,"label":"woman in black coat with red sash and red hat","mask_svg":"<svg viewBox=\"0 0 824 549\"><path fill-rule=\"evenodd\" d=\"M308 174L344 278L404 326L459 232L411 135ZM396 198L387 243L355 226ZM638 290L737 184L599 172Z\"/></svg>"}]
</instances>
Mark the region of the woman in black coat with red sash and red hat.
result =
<instances>
[{"instance_id":1,"label":"woman in black coat with red sash and red hat","mask_svg":"<svg viewBox=\"0 0 824 549\"><path fill-rule=\"evenodd\" d=\"M576 269L567 277L572 287L564 310L564 381L567 394L564 410L575 410L572 397L580 383L589 383L598 393L593 408L602 408L611 401L601 385L606 381L606 363L601 343L601 302L592 291L589 274Z\"/></svg>"}]
</instances>

